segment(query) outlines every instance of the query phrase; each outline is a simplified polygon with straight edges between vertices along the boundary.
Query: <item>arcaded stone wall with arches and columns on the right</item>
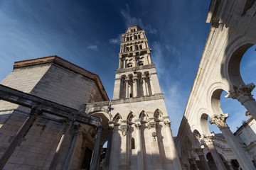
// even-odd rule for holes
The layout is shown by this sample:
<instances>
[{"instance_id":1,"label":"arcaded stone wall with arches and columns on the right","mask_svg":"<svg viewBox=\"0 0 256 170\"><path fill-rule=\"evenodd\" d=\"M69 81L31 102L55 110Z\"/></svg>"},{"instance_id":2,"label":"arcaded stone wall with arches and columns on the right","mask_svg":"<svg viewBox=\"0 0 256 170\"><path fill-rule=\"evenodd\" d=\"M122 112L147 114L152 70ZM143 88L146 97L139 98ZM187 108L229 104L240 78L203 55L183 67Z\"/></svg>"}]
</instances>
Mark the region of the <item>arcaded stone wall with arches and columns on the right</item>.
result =
<instances>
[{"instance_id":1,"label":"arcaded stone wall with arches and columns on the right","mask_svg":"<svg viewBox=\"0 0 256 170\"><path fill-rule=\"evenodd\" d=\"M211 1L206 19L211 23L208 39L175 141L183 169L198 169L196 159L200 159L201 169L213 169L213 164L216 169L255 169L254 142L249 146L246 142L247 127L233 135L226 123L228 113L223 114L220 107L220 95L226 91L226 97L238 100L256 118L251 94L255 85L245 84L240 74L242 56L256 44L255 11L255 0ZM221 136L211 134L208 117L220 128ZM244 142L247 147L240 144ZM237 162L231 165L230 159Z\"/></svg>"}]
</instances>

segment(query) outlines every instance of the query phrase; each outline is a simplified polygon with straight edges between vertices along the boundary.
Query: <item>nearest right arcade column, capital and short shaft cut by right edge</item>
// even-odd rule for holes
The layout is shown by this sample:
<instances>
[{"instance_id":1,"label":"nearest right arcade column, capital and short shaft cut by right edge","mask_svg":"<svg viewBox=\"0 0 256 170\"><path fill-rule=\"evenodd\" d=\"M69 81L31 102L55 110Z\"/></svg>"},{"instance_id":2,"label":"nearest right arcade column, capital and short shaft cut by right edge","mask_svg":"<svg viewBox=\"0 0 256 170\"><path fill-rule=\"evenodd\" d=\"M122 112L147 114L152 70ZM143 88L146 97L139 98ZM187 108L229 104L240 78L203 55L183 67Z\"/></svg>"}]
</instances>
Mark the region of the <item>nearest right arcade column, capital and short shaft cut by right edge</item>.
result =
<instances>
[{"instance_id":1,"label":"nearest right arcade column, capital and short shaft cut by right edge","mask_svg":"<svg viewBox=\"0 0 256 170\"><path fill-rule=\"evenodd\" d=\"M247 84L240 86L233 86L229 94L225 97L227 98L233 98L237 99L245 108L247 111L250 112L252 117L256 120L256 102L255 98L252 98L252 90L255 88L255 84Z\"/></svg>"}]
</instances>

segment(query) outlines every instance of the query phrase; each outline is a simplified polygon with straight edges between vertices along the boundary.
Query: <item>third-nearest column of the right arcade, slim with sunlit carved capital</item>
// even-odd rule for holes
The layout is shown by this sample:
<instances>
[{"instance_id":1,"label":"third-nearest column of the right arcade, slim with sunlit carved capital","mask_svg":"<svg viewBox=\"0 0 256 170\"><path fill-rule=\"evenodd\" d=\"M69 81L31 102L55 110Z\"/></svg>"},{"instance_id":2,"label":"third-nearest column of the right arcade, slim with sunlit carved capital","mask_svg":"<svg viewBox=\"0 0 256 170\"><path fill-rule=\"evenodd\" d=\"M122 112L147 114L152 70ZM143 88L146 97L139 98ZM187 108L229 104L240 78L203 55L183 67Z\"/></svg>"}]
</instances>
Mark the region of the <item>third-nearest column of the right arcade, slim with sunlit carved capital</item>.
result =
<instances>
[{"instance_id":1,"label":"third-nearest column of the right arcade, slim with sunlit carved capital","mask_svg":"<svg viewBox=\"0 0 256 170\"><path fill-rule=\"evenodd\" d=\"M218 152L215 149L215 146L213 144L213 135L210 135L210 136L203 135L201 140L203 140L206 143L207 147L209 148L210 154L213 156L213 161L214 161L217 169L218 170L225 169L225 165L223 164L223 161L221 160L220 155L218 154Z\"/></svg>"}]
</instances>

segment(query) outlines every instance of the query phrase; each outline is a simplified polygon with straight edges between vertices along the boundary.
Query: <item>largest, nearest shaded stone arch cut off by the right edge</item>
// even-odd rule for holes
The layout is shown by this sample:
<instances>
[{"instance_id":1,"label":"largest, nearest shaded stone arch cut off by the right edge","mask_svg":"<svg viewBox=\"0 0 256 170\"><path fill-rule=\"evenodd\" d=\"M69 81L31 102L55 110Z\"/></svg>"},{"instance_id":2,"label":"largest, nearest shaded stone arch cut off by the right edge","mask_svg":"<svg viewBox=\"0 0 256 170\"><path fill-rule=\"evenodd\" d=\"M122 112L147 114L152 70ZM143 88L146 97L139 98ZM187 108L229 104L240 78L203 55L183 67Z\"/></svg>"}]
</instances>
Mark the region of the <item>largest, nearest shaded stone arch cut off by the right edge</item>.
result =
<instances>
[{"instance_id":1,"label":"largest, nearest shaded stone arch cut off by the right edge","mask_svg":"<svg viewBox=\"0 0 256 170\"><path fill-rule=\"evenodd\" d=\"M245 84L240 75L240 62L245 52L256 44L256 40L246 40L247 38L242 37L230 43L226 48L225 61L223 61L222 74L230 82L230 86L240 86Z\"/></svg>"}]
</instances>

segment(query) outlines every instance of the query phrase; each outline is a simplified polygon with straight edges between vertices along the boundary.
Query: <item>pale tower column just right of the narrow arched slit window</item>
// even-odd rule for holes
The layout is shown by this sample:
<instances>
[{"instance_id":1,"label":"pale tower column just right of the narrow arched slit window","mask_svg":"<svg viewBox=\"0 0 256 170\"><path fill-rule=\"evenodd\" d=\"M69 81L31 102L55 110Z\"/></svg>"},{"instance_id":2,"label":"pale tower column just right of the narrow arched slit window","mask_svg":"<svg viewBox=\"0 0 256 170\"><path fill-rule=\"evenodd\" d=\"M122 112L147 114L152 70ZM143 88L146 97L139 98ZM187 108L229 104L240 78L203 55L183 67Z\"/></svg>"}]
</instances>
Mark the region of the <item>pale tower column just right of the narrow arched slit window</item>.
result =
<instances>
[{"instance_id":1,"label":"pale tower column just right of the narrow arched slit window","mask_svg":"<svg viewBox=\"0 0 256 170\"><path fill-rule=\"evenodd\" d=\"M135 128L136 128L136 135L137 135L137 142L136 142L136 147L137 147L137 169L138 170L144 170L144 161L143 161L143 151L142 151L142 135L141 135L141 130L140 127L142 123L140 123L139 120L135 120Z\"/></svg>"}]
</instances>

